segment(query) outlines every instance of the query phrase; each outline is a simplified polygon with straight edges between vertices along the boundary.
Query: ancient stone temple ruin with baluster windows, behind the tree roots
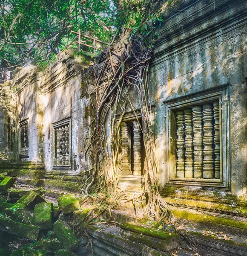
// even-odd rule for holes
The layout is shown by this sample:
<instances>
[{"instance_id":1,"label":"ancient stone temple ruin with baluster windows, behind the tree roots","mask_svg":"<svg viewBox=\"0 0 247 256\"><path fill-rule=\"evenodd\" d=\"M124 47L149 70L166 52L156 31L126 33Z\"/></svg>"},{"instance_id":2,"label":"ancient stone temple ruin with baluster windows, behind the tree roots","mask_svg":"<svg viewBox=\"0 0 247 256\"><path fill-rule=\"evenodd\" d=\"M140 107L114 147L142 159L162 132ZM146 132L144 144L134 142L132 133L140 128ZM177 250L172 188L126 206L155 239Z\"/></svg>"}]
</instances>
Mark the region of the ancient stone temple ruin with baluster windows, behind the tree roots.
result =
<instances>
[{"instance_id":1,"label":"ancient stone temple ruin with baluster windows, behind the tree roots","mask_svg":"<svg viewBox=\"0 0 247 256\"><path fill-rule=\"evenodd\" d=\"M149 109L159 191L208 255L247 255L247 2L188 0L156 30ZM86 84L92 68L66 51L48 69L17 68L0 84L3 172L19 170L19 183L48 189L50 198L80 193L81 173L89 167L85 143L93 116ZM120 134L119 186L127 193L143 185L135 95L133 90L135 112L129 107ZM206 229L234 241L203 236ZM107 255L117 255L111 246ZM125 253L119 255L135 255Z\"/></svg>"}]
</instances>

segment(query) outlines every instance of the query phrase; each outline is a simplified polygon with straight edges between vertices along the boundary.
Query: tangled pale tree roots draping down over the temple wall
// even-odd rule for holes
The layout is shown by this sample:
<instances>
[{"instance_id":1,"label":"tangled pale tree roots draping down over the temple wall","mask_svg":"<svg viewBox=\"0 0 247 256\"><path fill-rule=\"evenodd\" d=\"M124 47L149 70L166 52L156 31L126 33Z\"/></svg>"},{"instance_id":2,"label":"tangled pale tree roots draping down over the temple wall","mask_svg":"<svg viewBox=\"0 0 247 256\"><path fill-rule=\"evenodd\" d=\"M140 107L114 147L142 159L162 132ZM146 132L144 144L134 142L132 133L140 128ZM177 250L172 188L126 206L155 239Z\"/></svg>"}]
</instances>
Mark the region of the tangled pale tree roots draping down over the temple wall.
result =
<instances>
[{"instance_id":1,"label":"tangled pale tree roots draping down over the temple wall","mask_svg":"<svg viewBox=\"0 0 247 256\"><path fill-rule=\"evenodd\" d=\"M119 204L123 199L132 200L136 213L142 206L143 217L160 222L165 216L172 218L172 215L158 192L159 164L150 120L148 86L152 47L141 33L131 34L126 29L123 34L117 43L114 39L101 54L90 75L94 85L87 85L94 119L85 142L85 155L89 157L91 168L86 169L85 166L84 193L101 192L109 195L110 204ZM135 113L131 96L133 92L138 95L146 155L143 190L129 198L118 187L117 169L121 161L121 122L127 108L132 108Z\"/></svg>"}]
</instances>

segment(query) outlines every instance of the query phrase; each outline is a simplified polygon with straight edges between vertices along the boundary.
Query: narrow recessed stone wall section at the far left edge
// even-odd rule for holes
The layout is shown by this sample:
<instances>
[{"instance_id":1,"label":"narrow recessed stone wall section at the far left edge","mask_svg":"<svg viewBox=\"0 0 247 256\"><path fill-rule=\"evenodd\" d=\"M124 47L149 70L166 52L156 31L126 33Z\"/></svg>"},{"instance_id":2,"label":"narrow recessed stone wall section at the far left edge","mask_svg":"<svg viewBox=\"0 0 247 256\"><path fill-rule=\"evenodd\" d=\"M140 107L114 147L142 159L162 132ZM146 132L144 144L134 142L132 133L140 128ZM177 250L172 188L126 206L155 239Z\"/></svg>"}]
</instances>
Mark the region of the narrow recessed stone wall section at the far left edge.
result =
<instances>
[{"instance_id":1,"label":"narrow recessed stone wall section at the far left edge","mask_svg":"<svg viewBox=\"0 0 247 256\"><path fill-rule=\"evenodd\" d=\"M0 161L14 160L14 105L9 84L0 84Z\"/></svg>"}]
</instances>

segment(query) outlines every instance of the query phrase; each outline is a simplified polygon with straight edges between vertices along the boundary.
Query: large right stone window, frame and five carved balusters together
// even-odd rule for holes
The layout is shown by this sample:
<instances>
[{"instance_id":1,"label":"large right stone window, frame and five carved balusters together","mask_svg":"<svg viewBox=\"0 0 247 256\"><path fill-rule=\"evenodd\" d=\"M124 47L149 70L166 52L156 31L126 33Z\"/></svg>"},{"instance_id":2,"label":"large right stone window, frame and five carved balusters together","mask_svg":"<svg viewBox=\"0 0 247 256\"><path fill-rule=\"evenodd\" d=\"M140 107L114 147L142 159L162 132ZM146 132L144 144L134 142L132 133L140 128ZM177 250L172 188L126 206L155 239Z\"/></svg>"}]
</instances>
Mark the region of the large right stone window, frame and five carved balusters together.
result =
<instances>
[{"instance_id":1,"label":"large right stone window, frame and five carved balusters together","mask_svg":"<svg viewBox=\"0 0 247 256\"><path fill-rule=\"evenodd\" d=\"M164 105L166 183L229 189L228 87Z\"/></svg>"}]
</instances>

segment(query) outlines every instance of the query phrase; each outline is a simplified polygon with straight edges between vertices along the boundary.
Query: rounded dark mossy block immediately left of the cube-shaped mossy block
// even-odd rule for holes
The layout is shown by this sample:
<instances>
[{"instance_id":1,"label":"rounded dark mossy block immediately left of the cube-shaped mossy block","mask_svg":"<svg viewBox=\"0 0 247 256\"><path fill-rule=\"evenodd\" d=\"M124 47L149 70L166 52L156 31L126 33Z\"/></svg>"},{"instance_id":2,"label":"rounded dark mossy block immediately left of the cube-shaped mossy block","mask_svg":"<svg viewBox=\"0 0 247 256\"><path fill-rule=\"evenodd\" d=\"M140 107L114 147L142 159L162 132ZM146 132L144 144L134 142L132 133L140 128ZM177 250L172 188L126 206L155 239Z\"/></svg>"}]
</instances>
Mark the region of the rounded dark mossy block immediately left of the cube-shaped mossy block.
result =
<instances>
[{"instance_id":1,"label":"rounded dark mossy block immediately left of the cube-shaped mossy block","mask_svg":"<svg viewBox=\"0 0 247 256\"><path fill-rule=\"evenodd\" d=\"M32 211L26 207L24 204L14 204L14 206L5 210L5 214L13 221L23 222L25 224L31 224L33 217Z\"/></svg>"}]
</instances>

